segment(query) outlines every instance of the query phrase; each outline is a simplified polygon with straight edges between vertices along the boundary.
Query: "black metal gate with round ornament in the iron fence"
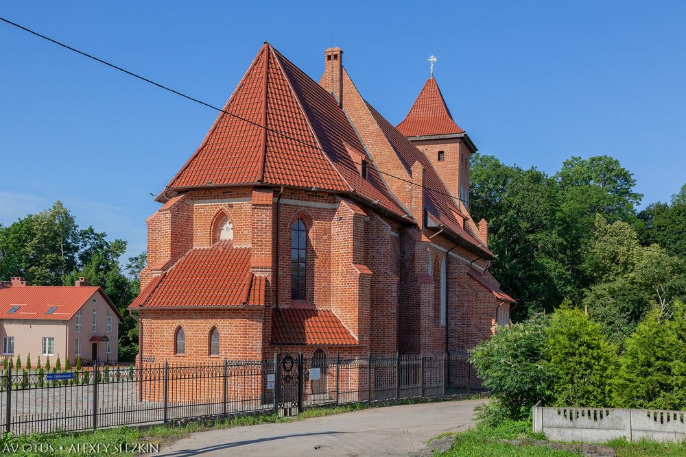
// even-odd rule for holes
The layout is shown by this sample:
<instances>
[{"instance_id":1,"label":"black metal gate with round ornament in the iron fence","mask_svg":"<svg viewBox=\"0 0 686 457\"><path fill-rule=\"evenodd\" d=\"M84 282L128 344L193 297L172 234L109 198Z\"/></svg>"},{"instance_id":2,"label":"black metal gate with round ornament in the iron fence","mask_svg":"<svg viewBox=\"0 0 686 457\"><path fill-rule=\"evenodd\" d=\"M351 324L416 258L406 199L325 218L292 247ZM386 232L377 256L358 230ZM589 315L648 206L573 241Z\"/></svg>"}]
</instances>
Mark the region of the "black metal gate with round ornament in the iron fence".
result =
<instances>
[{"instance_id":1,"label":"black metal gate with round ornament in the iron fence","mask_svg":"<svg viewBox=\"0 0 686 457\"><path fill-rule=\"evenodd\" d=\"M275 354L277 373L275 387L279 417L297 416L303 406L303 354Z\"/></svg>"}]
</instances>

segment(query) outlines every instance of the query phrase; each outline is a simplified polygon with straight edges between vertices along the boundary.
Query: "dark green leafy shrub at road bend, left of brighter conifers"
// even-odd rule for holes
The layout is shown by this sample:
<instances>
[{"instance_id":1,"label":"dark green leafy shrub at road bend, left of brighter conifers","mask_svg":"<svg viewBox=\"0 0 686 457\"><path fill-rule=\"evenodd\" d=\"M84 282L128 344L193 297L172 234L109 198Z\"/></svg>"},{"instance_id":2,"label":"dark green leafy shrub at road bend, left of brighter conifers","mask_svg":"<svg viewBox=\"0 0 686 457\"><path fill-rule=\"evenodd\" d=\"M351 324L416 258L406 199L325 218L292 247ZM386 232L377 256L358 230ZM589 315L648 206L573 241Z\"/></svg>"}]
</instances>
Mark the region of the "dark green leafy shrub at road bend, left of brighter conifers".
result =
<instances>
[{"instance_id":1,"label":"dark green leafy shrub at road bend, left of brighter conifers","mask_svg":"<svg viewBox=\"0 0 686 457\"><path fill-rule=\"evenodd\" d=\"M480 419L493 424L525 419L536 402L551 397L552 378L543 360L548 321L534 317L499 328L472 350L470 362L493 393Z\"/></svg>"}]
</instances>

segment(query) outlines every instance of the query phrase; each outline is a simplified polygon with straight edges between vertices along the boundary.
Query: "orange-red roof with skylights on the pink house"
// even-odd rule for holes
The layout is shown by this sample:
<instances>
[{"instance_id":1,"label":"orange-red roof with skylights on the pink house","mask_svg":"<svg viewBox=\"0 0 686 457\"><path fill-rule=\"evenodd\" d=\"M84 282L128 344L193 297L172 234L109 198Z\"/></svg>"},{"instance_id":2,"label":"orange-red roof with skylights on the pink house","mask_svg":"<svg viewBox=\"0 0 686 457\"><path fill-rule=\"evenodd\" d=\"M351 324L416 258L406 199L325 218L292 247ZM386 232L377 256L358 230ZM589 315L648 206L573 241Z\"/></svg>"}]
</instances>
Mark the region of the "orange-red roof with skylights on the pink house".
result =
<instances>
[{"instance_id":1,"label":"orange-red roof with skylights on the pink house","mask_svg":"<svg viewBox=\"0 0 686 457\"><path fill-rule=\"evenodd\" d=\"M0 284L0 319L36 319L67 321L100 292L121 320L121 314L97 286L10 286ZM12 307L19 306L15 312ZM52 312L47 313L50 308Z\"/></svg>"}]
</instances>

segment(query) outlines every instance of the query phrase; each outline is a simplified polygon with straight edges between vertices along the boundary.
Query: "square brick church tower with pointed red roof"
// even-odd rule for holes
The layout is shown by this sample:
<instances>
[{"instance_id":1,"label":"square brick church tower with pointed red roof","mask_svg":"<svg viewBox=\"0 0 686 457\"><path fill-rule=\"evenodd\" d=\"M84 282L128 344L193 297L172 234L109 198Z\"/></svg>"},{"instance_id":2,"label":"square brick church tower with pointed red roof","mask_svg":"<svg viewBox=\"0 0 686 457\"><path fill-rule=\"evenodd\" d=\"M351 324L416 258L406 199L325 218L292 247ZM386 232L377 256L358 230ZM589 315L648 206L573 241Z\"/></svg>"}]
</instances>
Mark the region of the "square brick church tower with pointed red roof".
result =
<instances>
[{"instance_id":1,"label":"square brick church tower with pointed red roof","mask_svg":"<svg viewBox=\"0 0 686 457\"><path fill-rule=\"evenodd\" d=\"M469 158L477 149L453 121L433 74L396 128L424 151L458 206L469 210Z\"/></svg>"}]
</instances>

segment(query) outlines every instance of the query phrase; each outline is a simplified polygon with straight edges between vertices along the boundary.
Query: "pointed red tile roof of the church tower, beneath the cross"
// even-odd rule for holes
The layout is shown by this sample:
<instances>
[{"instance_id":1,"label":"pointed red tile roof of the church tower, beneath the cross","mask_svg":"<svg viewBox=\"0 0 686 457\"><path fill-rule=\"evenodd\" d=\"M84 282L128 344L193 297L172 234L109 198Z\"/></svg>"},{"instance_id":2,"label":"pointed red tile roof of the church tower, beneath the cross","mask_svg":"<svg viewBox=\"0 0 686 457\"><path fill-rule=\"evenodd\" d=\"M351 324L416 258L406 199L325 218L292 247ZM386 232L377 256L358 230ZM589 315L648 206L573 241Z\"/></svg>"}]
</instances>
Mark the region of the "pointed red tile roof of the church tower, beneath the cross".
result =
<instances>
[{"instance_id":1,"label":"pointed red tile roof of the church tower, beneath the cross","mask_svg":"<svg viewBox=\"0 0 686 457\"><path fill-rule=\"evenodd\" d=\"M450 115L433 76L424 84L410 112L396 127L405 136L463 134Z\"/></svg>"}]
</instances>

